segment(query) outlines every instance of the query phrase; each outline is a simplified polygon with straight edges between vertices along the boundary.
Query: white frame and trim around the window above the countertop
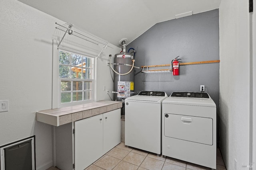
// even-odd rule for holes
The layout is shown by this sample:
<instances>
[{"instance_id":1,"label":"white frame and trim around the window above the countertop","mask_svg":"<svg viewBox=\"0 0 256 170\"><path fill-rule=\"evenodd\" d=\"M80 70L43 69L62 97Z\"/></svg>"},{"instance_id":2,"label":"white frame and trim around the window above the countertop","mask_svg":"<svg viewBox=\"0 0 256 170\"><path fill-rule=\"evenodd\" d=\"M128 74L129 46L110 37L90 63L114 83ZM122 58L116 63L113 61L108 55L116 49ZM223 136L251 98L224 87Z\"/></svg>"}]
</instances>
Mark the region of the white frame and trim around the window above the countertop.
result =
<instances>
[{"instance_id":1,"label":"white frame and trim around the window above the countertop","mask_svg":"<svg viewBox=\"0 0 256 170\"><path fill-rule=\"evenodd\" d=\"M90 57L92 59L92 79L77 79L77 78L60 78L59 77L59 51L65 51L68 53L74 53L77 55L82 55L84 57ZM56 68L56 69L54 69ZM57 70L57 71L54 71ZM58 81L56 81L55 78L57 78ZM61 80L72 80L72 81L82 81L82 82L92 82L92 97L91 100L82 100L82 101L74 101L74 102L68 102L68 103L61 103ZM90 55L84 52L75 51L72 49L66 49L66 48L57 48L56 51L53 51L53 91L52 91L52 108L61 108L61 107L67 107L67 106L76 106L81 104L86 104L90 102L96 101L96 56ZM56 87L57 86L57 87ZM84 86L84 83L83 83ZM57 90L57 92L54 91ZM56 96L57 95L57 96ZM56 100L58 102L56 102Z\"/></svg>"}]
</instances>

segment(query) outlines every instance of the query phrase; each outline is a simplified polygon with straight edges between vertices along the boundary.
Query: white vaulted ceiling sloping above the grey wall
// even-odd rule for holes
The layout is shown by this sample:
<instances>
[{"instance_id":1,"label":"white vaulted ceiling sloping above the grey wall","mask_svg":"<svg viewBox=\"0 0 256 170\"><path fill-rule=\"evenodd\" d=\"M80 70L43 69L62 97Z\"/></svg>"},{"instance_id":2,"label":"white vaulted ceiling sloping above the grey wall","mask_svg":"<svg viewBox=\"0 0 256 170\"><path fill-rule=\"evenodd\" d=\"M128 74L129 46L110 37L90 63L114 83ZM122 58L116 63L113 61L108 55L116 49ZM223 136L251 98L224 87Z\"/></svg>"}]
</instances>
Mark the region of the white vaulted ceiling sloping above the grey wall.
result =
<instances>
[{"instance_id":1,"label":"white vaulted ceiling sloping above the grey wall","mask_svg":"<svg viewBox=\"0 0 256 170\"><path fill-rule=\"evenodd\" d=\"M156 23L219 8L221 0L19 0L120 46Z\"/></svg>"}]
</instances>

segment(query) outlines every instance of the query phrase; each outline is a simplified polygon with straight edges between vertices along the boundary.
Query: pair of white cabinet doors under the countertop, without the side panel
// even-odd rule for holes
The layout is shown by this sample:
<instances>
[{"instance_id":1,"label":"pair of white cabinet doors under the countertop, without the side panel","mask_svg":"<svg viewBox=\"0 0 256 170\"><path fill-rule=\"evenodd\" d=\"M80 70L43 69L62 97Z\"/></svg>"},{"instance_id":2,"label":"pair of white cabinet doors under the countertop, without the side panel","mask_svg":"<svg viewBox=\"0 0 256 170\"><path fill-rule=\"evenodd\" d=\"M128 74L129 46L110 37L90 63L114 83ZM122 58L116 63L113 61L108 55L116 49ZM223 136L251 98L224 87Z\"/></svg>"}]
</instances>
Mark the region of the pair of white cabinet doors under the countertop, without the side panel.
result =
<instances>
[{"instance_id":1,"label":"pair of white cabinet doors under the countertop, without the side panel","mask_svg":"<svg viewBox=\"0 0 256 170\"><path fill-rule=\"evenodd\" d=\"M75 121L75 169L85 169L120 142L120 109Z\"/></svg>"}]
</instances>

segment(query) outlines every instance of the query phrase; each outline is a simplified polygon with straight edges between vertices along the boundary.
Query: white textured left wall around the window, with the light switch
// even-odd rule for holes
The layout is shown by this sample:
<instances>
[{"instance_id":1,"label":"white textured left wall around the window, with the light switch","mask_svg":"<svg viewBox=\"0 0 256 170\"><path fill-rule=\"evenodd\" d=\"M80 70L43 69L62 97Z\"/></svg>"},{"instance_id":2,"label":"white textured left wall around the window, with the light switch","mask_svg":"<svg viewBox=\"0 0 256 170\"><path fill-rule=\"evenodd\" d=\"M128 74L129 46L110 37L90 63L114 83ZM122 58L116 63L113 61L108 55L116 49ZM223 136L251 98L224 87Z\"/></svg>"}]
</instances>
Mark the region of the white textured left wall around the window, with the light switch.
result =
<instances>
[{"instance_id":1,"label":"white textured left wall around the window, with the light switch","mask_svg":"<svg viewBox=\"0 0 256 170\"><path fill-rule=\"evenodd\" d=\"M0 1L0 100L9 100L9 111L0 112L0 146L36 135L40 170L52 165L51 126L37 122L35 112L52 107L55 22L64 23L16 0ZM113 90L106 60L119 51L108 48L98 59L97 100L109 99L102 93L103 84Z\"/></svg>"}]
</instances>

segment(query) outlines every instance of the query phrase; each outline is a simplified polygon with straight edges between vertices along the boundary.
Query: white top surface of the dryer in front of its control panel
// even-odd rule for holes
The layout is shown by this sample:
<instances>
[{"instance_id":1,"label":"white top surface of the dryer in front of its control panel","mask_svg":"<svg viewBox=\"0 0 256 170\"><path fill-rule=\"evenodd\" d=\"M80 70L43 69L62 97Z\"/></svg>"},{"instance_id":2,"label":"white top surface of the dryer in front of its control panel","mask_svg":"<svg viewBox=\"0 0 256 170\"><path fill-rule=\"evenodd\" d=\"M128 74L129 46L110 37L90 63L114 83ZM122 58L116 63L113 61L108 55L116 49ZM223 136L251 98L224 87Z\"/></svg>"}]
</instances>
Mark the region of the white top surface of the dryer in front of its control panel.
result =
<instances>
[{"instance_id":1,"label":"white top surface of the dryer in front of its control panel","mask_svg":"<svg viewBox=\"0 0 256 170\"><path fill-rule=\"evenodd\" d=\"M163 104L178 104L178 105L190 105L190 106L207 106L216 107L216 104L212 98L193 98L193 97L172 97L172 95L166 98Z\"/></svg>"}]
</instances>

